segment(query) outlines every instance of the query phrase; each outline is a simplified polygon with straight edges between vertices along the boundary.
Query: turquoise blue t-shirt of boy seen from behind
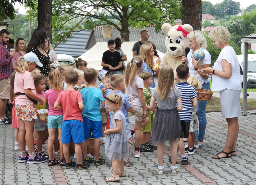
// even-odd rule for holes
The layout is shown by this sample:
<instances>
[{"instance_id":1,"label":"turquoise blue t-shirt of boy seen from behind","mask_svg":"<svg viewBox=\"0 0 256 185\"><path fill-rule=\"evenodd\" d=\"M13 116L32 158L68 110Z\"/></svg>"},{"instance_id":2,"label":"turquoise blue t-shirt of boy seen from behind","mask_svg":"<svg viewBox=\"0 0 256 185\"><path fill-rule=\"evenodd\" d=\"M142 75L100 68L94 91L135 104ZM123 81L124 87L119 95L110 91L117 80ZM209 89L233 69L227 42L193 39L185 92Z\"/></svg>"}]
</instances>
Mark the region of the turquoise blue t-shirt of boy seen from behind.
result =
<instances>
[{"instance_id":1,"label":"turquoise blue t-shirt of boy seen from behind","mask_svg":"<svg viewBox=\"0 0 256 185\"><path fill-rule=\"evenodd\" d=\"M83 117L92 121L101 121L102 115L99 103L105 99L102 97L102 91L96 87L85 87L80 93L84 101L85 109L82 111Z\"/></svg>"}]
</instances>

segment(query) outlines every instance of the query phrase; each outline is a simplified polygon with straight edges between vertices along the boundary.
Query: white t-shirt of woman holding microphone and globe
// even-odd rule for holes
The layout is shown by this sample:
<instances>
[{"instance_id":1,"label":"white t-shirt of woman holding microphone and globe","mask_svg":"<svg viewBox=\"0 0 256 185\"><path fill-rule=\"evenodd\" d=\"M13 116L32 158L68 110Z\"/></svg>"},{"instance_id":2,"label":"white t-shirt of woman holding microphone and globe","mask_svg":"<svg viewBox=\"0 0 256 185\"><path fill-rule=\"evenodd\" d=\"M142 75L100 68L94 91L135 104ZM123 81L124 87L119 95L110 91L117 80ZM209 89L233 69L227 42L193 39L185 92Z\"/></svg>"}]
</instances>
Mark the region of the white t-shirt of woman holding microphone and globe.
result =
<instances>
[{"instance_id":1,"label":"white t-shirt of woman holding microphone and globe","mask_svg":"<svg viewBox=\"0 0 256 185\"><path fill-rule=\"evenodd\" d=\"M200 50L203 50L204 54L205 54L205 57L203 60L201 60L200 62L202 62L203 64L202 65L205 65L205 64L211 64L211 55L210 53L205 49L205 48L200 48ZM188 59L188 63L187 63L187 66L189 68L189 74L190 76L194 76L195 75L195 67L193 66L192 64L192 54L193 54L193 50L190 49L190 52L187 54L187 59ZM200 63L199 62L199 63ZM200 66L199 66L200 67ZM200 67L201 68L201 67ZM200 76L200 74L196 74L195 75L195 78L197 78L202 84L203 82L207 83L210 81L210 79L204 79L203 77Z\"/></svg>"}]
</instances>

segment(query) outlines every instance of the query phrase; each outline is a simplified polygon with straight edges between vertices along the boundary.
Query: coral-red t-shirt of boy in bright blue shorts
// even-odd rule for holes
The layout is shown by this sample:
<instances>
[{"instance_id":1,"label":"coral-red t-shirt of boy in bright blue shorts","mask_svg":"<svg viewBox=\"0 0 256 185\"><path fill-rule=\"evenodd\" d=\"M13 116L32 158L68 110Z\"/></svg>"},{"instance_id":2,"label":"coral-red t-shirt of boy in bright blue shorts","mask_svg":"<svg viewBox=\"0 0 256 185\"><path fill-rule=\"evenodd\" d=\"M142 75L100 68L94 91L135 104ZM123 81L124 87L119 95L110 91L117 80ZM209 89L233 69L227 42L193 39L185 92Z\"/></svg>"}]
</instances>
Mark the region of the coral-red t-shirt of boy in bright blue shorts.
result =
<instances>
[{"instance_id":1,"label":"coral-red t-shirt of boy in bright blue shorts","mask_svg":"<svg viewBox=\"0 0 256 185\"><path fill-rule=\"evenodd\" d=\"M82 95L76 90L62 91L57 100L63 109L63 121L76 119L83 122L82 111L79 109L78 102L82 101Z\"/></svg>"}]
</instances>

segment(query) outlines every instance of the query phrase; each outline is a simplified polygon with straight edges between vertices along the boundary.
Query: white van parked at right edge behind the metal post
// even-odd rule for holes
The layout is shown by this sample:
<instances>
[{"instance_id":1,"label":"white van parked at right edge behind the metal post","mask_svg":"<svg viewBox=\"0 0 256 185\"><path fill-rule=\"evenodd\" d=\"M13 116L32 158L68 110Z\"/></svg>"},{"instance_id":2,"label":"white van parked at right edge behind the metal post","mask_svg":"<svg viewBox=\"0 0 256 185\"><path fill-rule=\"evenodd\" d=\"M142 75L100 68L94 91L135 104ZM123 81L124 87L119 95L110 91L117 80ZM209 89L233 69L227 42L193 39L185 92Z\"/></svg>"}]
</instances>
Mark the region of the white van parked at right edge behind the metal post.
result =
<instances>
[{"instance_id":1,"label":"white van parked at right edge behind the metal post","mask_svg":"<svg viewBox=\"0 0 256 185\"><path fill-rule=\"evenodd\" d=\"M240 64L241 85L244 81L244 55L237 55ZM248 55L247 88L256 88L256 54Z\"/></svg>"}]
</instances>

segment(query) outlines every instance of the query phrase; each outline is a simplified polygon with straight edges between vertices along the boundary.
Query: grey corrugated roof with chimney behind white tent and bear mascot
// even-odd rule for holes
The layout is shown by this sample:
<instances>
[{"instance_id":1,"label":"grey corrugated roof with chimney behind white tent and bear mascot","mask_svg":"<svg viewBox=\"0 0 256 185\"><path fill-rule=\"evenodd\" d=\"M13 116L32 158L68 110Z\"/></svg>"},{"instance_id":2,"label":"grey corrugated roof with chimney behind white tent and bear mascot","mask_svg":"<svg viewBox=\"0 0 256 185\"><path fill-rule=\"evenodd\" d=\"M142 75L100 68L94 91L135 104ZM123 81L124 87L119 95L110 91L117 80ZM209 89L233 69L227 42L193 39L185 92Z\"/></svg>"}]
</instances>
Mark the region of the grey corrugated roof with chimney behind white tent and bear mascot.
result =
<instances>
[{"instance_id":1,"label":"grey corrugated roof with chimney behind white tent and bear mascot","mask_svg":"<svg viewBox=\"0 0 256 185\"><path fill-rule=\"evenodd\" d=\"M149 41L153 41L156 44L156 48L158 51L165 53L165 39L166 36L163 34L163 31L160 30L159 33L155 31L155 26L144 27L144 28L128 28L130 31L129 39L130 41L139 41L140 39L140 31L147 30L149 32ZM90 38L88 39L88 44L90 39L95 37L96 42L107 42L109 39L115 39L115 37L121 37L120 32L117 31L116 28L111 27L111 38L103 38L102 35L102 27L93 28L93 31L90 34ZM88 44L86 44L85 48L88 49ZM132 48L131 48L132 50Z\"/></svg>"}]
</instances>

